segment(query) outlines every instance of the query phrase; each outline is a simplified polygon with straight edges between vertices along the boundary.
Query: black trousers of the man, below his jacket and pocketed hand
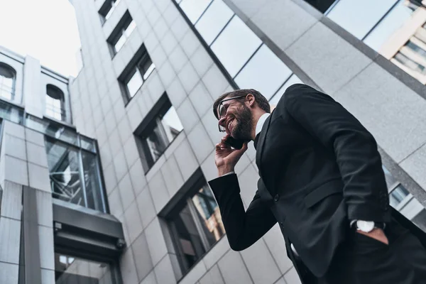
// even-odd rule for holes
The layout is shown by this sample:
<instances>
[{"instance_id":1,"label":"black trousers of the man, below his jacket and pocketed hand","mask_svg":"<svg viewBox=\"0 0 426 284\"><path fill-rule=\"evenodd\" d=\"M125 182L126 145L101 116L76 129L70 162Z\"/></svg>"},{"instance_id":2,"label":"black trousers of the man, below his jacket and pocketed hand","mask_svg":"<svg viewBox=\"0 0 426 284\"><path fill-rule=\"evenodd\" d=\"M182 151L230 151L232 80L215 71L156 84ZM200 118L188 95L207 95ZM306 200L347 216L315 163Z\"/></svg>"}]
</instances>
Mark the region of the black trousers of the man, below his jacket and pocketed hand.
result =
<instances>
[{"instance_id":1,"label":"black trousers of the man, below his jacket and pocketed hand","mask_svg":"<svg viewBox=\"0 0 426 284\"><path fill-rule=\"evenodd\" d=\"M399 224L392 225L385 230L388 245L351 231L324 277L306 271L304 283L426 284L425 247Z\"/></svg>"}]
</instances>

